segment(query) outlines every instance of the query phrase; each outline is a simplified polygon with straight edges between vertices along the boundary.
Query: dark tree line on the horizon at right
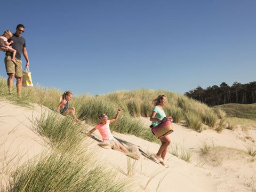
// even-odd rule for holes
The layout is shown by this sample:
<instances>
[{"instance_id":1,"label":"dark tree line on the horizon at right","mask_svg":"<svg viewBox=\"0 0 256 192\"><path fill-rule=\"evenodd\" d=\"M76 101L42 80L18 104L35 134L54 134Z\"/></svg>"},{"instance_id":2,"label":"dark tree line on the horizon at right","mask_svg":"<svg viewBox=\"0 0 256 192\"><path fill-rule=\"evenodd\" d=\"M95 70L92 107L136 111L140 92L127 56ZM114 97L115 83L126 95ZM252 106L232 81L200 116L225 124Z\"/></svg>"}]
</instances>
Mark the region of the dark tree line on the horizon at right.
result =
<instances>
[{"instance_id":1,"label":"dark tree line on the horizon at right","mask_svg":"<svg viewBox=\"0 0 256 192\"><path fill-rule=\"evenodd\" d=\"M196 89L186 92L185 95L206 103L208 106L226 103L256 103L256 82L246 84L235 82L232 86L222 82L220 86L213 85L206 89L198 86Z\"/></svg>"}]
</instances>

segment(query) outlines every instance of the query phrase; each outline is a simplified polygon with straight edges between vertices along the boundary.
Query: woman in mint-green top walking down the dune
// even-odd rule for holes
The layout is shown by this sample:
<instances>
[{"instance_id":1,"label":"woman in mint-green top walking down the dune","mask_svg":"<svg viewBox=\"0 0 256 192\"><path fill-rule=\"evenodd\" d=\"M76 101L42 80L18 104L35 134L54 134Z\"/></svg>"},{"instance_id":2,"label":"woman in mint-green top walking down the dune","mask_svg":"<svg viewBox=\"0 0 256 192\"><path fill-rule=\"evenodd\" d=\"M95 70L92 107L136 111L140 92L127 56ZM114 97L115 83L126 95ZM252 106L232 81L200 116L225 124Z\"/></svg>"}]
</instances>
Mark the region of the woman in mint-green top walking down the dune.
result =
<instances>
[{"instance_id":1,"label":"woman in mint-green top walking down the dune","mask_svg":"<svg viewBox=\"0 0 256 192\"><path fill-rule=\"evenodd\" d=\"M158 125L162 121L164 117L166 117L163 106L165 105L166 97L165 95L159 95L156 99L153 100L152 104L154 105L152 114L150 116L150 121L152 122L153 126ZM172 121L172 117L167 117ZM164 158L167 153L167 147L171 143L171 139L166 135L165 137L159 138L162 142L161 147L159 148L157 154L155 157L157 158L158 162L164 165L166 168L169 167L168 165L165 165Z\"/></svg>"}]
</instances>

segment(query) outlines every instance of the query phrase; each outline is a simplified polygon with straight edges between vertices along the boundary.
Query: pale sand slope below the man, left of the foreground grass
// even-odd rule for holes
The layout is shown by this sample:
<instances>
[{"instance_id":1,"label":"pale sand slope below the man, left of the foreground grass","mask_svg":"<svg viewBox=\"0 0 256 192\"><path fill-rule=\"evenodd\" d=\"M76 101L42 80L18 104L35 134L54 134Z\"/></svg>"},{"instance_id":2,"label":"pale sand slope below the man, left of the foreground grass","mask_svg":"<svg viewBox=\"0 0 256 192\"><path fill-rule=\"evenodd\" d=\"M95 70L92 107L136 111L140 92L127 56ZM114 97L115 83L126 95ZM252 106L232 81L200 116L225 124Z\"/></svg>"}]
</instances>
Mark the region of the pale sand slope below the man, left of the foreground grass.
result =
<instances>
[{"instance_id":1,"label":"pale sand slope below the man, left of the foreground grass","mask_svg":"<svg viewBox=\"0 0 256 192\"><path fill-rule=\"evenodd\" d=\"M43 107L45 108L45 107ZM38 118L42 107L30 108L0 100L0 182L5 185L8 175L29 159L48 150L49 146L31 131L33 118Z\"/></svg>"}]
</instances>

